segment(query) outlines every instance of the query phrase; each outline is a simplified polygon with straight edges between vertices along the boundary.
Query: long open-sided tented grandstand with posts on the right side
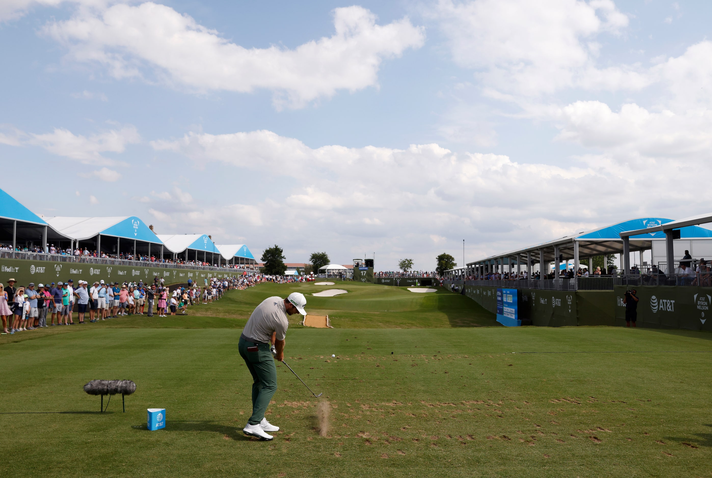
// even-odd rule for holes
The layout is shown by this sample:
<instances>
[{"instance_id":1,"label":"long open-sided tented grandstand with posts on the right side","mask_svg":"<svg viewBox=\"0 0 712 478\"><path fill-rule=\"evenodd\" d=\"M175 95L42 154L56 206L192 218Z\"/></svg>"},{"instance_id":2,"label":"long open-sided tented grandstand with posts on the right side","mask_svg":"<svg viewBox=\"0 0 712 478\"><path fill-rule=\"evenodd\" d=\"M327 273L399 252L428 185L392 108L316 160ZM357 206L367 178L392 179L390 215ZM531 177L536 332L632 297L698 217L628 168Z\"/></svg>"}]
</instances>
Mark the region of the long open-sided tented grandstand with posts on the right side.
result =
<instances>
[{"instance_id":1,"label":"long open-sided tented grandstand with posts on the right side","mask_svg":"<svg viewBox=\"0 0 712 478\"><path fill-rule=\"evenodd\" d=\"M530 267L535 263L540 264L540 270L548 272L552 262L559 265L560 262L568 260L574 260L573 267L577 268L580 261L590 264L590 259L593 256L623 254L624 240L620 237L620 233L659 228L659 226L672 221L674 220L670 218L636 218L604 228L567 235L527 248L468 262L466 275L481 275L493 271L508 272L513 270L511 267L513 265L517 265L517 268L520 269L521 265ZM712 257L712 230L698 225L689 225L679 230L681 240L676 240L674 246L676 258L681 258L684 250L690 250L691 253L696 254L693 257L705 257L705 255ZM651 250L653 264L659 265L661 270L666 270L664 232L654 230L651 233L632 235L628 240L628 247L630 252ZM554 270L558 276L558 267L555 266Z\"/></svg>"}]
</instances>

